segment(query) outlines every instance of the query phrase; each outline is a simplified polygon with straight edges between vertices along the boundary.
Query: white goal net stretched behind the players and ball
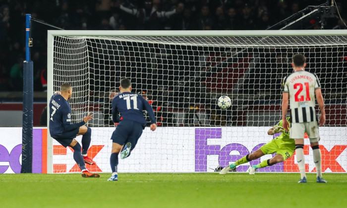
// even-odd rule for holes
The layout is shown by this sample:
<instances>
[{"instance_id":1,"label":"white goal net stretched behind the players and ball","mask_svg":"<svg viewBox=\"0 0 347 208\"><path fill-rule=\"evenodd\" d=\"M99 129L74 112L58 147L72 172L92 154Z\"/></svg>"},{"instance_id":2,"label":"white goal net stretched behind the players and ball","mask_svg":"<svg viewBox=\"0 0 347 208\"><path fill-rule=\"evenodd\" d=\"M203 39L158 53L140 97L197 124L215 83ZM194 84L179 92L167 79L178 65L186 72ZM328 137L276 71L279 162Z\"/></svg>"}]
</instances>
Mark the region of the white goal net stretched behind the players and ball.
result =
<instances>
[{"instance_id":1,"label":"white goal net stretched behind the players and ball","mask_svg":"<svg viewBox=\"0 0 347 208\"><path fill-rule=\"evenodd\" d=\"M267 131L282 119L282 82L295 53L306 56L306 70L322 86L322 170L347 171L346 31L49 31L48 38L48 101L68 82L71 122L94 114L87 124L88 155L97 163L87 165L91 171L111 172L111 102L121 78L152 104L158 128L144 130L119 172L210 172L278 136ZM231 98L225 110L217 105L222 95ZM78 172L72 154L49 137L48 172ZM304 154L306 171L314 172L307 139ZM297 172L295 154L258 171Z\"/></svg>"}]
</instances>

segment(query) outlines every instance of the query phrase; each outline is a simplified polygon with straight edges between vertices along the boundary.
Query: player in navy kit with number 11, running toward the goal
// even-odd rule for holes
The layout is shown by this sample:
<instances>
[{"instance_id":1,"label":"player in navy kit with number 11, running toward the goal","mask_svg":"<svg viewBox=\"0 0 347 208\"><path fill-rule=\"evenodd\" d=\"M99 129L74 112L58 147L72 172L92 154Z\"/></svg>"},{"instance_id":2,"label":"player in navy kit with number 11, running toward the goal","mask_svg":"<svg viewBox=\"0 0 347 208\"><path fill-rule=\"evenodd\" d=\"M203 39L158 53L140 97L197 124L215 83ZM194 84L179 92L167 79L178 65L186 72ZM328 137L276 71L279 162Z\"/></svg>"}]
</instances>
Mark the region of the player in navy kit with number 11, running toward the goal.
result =
<instances>
[{"instance_id":1,"label":"player in navy kit with number 11, running toward the goal","mask_svg":"<svg viewBox=\"0 0 347 208\"><path fill-rule=\"evenodd\" d=\"M131 151L140 138L146 126L143 109L146 109L151 119L151 130L157 128L156 118L152 106L141 95L131 93L129 79L120 80L119 93L112 101L112 118L115 123L119 122L113 132L111 140L112 154L110 158L112 176L109 181L117 181L118 154L124 159L130 156ZM120 113L120 118L119 114Z\"/></svg>"}]
</instances>

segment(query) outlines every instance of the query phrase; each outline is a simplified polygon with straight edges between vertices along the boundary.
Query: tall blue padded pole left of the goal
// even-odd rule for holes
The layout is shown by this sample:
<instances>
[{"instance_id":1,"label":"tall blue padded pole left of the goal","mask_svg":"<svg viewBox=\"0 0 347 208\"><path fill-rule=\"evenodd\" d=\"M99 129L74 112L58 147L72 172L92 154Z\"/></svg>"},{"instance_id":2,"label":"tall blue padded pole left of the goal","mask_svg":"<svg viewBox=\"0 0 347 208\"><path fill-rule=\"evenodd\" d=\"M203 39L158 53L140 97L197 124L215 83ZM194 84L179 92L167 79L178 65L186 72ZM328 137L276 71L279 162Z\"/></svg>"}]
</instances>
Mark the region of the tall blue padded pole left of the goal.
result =
<instances>
[{"instance_id":1,"label":"tall blue padded pole left of the goal","mask_svg":"<svg viewBox=\"0 0 347 208\"><path fill-rule=\"evenodd\" d=\"M25 61L23 64L23 128L21 173L32 172L33 161L33 62L30 60L31 15L26 14Z\"/></svg>"}]
</instances>

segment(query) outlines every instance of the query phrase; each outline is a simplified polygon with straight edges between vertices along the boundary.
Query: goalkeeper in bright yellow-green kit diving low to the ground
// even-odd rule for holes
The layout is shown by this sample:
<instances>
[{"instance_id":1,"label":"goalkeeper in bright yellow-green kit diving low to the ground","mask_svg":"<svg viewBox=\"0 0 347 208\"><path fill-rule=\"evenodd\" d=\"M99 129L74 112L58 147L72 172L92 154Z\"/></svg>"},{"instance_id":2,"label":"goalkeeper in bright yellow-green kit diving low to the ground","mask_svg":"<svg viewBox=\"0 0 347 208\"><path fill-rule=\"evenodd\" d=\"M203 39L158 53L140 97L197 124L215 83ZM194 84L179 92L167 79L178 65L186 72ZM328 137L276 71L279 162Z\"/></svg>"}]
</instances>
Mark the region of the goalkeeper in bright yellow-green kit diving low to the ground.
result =
<instances>
[{"instance_id":1,"label":"goalkeeper in bright yellow-green kit diving low to the ground","mask_svg":"<svg viewBox=\"0 0 347 208\"><path fill-rule=\"evenodd\" d=\"M289 122L290 117L287 117L286 120ZM231 165L223 168L219 174L226 174L229 170L235 170L236 167L240 164L247 163L254 159L258 159L261 156L269 155L276 153L276 156L271 159L264 160L259 164L253 165L249 174L253 175L258 168L267 167L274 165L279 162L283 162L284 160L291 157L295 151L295 141L293 139L289 139L289 131L286 131L283 128L283 121L281 120L277 125L270 128L268 131L268 135L274 135L276 133L281 133L280 136L261 146L257 151L242 157L241 159L231 163Z\"/></svg>"}]
</instances>

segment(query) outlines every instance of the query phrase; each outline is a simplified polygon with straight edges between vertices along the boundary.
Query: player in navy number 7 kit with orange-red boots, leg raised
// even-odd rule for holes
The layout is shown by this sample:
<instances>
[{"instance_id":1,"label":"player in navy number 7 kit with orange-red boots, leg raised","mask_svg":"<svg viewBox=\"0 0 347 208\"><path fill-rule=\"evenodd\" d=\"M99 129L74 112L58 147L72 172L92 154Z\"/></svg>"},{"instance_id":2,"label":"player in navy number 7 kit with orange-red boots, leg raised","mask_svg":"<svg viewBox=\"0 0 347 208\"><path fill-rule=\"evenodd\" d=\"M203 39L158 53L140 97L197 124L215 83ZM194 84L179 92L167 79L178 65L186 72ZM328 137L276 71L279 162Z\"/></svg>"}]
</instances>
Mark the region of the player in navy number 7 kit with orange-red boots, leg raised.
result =
<instances>
[{"instance_id":1,"label":"player in navy number 7 kit with orange-red boots, leg raised","mask_svg":"<svg viewBox=\"0 0 347 208\"><path fill-rule=\"evenodd\" d=\"M63 83L60 86L60 94L53 95L50 108L50 134L51 137L57 140L65 148L71 147L73 159L81 168L82 177L90 178L100 177L99 174L91 173L87 170L85 162L95 164L95 162L87 156L87 151L91 141L92 129L84 126L84 124L93 118L93 115L88 113L87 116L79 123L71 124L71 107L67 102L72 96L72 87L68 83ZM82 136L82 152L80 144L75 140L76 136Z\"/></svg>"}]
</instances>

